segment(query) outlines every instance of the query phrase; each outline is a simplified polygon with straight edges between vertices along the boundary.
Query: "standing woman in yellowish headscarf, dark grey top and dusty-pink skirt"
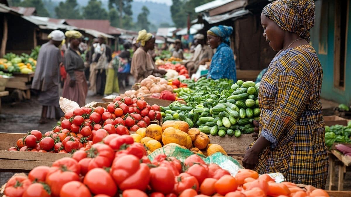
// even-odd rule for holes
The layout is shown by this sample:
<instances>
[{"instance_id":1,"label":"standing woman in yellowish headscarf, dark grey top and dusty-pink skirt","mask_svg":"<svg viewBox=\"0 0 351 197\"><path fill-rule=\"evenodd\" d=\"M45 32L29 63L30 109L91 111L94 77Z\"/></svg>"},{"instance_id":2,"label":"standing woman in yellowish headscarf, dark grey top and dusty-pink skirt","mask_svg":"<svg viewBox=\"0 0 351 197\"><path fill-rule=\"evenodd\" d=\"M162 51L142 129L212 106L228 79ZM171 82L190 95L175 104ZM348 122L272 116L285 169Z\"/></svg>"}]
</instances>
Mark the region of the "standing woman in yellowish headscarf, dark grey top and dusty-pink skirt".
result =
<instances>
[{"instance_id":1,"label":"standing woman in yellowish headscarf, dark grey top and dusty-pink skirt","mask_svg":"<svg viewBox=\"0 0 351 197\"><path fill-rule=\"evenodd\" d=\"M65 35L69 39L70 45L65 52L67 77L62 89L62 97L77 102L79 106L84 106L88 84L84 74L84 61L78 49L82 34L75 30L69 30Z\"/></svg>"}]
</instances>

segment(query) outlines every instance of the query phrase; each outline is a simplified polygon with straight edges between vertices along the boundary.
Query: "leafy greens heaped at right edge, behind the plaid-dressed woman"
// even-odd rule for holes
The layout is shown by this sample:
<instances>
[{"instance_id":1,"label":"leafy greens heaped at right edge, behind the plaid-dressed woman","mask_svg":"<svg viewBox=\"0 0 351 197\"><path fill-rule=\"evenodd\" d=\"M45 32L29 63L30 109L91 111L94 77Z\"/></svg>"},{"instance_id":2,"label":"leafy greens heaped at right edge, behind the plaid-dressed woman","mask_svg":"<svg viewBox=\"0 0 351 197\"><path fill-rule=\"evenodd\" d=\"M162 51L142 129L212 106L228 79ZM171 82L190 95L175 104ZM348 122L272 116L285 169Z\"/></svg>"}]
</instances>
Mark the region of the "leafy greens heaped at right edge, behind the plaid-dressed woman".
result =
<instances>
[{"instance_id":1,"label":"leafy greens heaped at right edge, behind the plaid-dressed woman","mask_svg":"<svg viewBox=\"0 0 351 197\"><path fill-rule=\"evenodd\" d=\"M347 126L343 125L332 125L325 126L325 144L327 147L332 147L334 142L337 143L351 143L351 121L347 123Z\"/></svg>"}]
</instances>

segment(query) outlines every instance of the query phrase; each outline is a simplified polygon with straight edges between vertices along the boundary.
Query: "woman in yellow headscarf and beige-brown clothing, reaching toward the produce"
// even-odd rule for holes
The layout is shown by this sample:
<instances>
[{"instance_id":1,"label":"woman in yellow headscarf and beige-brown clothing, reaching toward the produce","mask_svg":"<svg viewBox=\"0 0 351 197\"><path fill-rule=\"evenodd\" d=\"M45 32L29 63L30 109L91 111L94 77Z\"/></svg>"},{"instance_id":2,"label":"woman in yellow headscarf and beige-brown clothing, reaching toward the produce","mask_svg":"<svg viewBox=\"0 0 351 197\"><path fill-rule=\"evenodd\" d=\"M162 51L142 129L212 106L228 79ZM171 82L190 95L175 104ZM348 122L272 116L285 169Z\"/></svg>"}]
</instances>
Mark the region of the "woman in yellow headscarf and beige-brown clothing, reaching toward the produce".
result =
<instances>
[{"instance_id":1,"label":"woman in yellow headscarf and beige-brown clothing, reaching toward the produce","mask_svg":"<svg viewBox=\"0 0 351 197\"><path fill-rule=\"evenodd\" d=\"M135 50L131 64L131 74L134 76L135 82L139 83L149 75L164 75L165 70L155 69L155 63L152 60L148 50L155 47L155 36L147 33L145 29L139 31L137 42L140 47Z\"/></svg>"}]
</instances>

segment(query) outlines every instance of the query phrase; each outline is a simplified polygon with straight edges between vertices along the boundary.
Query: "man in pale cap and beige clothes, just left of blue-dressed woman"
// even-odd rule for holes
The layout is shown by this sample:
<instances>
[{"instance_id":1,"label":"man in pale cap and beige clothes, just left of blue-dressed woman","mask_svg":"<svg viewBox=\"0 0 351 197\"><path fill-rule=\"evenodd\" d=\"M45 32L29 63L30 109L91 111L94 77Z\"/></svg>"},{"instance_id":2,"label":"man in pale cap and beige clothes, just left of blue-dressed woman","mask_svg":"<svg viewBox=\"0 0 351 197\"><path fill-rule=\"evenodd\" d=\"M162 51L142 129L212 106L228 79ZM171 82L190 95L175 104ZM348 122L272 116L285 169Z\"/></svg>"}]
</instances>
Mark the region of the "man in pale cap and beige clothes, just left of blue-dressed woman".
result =
<instances>
[{"instance_id":1,"label":"man in pale cap and beige clothes, just left of blue-dressed woman","mask_svg":"<svg viewBox=\"0 0 351 197\"><path fill-rule=\"evenodd\" d=\"M210 61L213 56L213 50L205 44L204 34L196 34L194 36L195 52L192 58L185 64L188 69L189 76L196 73L201 64Z\"/></svg>"}]
</instances>

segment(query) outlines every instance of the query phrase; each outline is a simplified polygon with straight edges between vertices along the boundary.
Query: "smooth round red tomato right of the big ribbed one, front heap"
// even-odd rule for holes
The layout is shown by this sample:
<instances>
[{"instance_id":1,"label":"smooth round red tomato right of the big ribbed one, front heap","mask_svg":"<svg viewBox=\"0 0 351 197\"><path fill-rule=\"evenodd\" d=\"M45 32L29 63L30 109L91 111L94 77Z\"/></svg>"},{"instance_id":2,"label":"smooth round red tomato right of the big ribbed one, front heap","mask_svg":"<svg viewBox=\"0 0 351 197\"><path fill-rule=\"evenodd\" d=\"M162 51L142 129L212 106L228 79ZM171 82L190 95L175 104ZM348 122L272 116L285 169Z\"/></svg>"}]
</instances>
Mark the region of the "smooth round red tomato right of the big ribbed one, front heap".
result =
<instances>
[{"instance_id":1,"label":"smooth round red tomato right of the big ribbed one, front heap","mask_svg":"<svg viewBox=\"0 0 351 197\"><path fill-rule=\"evenodd\" d=\"M166 167L150 169L150 186L153 191L171 193L174 187L174 174Z\"/></svg>"}]
</instances>

